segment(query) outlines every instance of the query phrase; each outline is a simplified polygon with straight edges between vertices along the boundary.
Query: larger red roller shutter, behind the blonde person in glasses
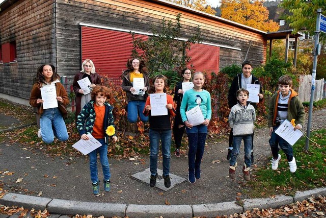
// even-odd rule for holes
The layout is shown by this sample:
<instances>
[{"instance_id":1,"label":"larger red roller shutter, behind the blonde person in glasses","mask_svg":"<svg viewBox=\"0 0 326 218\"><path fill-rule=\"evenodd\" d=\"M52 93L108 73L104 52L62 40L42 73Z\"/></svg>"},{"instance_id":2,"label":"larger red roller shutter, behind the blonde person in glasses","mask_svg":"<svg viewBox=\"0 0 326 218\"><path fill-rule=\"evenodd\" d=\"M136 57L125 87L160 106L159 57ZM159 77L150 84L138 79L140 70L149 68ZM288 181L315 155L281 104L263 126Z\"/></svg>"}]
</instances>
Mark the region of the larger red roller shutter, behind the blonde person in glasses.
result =
<instances>
[{"instance_id":1,"label":"larger red roller shutter, behind the blonde person in glasses","mask_svg":"<svg viewBox=\"0 0 326 218\"><path fill-rule=\"evenodd\" d=\"M140 34L135 34L135 37L148 39L148 36ZM132 48L132 38L128 32L82 27L82 61L91 59L98 74L120 78Z\"/></svg>"}]
</instances>

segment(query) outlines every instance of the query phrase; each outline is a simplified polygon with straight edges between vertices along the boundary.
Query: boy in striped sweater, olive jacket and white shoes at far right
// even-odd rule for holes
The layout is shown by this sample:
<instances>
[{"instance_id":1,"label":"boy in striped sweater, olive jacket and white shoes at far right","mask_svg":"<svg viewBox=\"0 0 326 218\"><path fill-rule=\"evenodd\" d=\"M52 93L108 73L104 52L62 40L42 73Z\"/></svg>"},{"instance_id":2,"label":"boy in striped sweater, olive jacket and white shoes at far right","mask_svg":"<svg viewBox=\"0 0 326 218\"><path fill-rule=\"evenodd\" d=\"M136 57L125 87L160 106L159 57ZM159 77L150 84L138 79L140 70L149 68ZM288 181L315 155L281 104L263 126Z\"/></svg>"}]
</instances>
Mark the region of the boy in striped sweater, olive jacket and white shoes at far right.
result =
<instances>
[{"instance_id":1,"label":"boy in striped sweater, olive jacket and white shoes at far right","mask_svg":"<svg viewBox=\"0 0 326 218\"><path fill-rule=\"evenodd\" d=\"M298 94L291 88L292 78L284 75L279 78L279 90L271 97L268 110L269 144L273 159L271 169L274 171L279 166L281 155L279 146L286 155L289 162L290 172L296 171L296 162L293 157L292 146L282 137L275 133L275 130L285 119L291 121L295 119L294 129L300 130L305 123L305 109L299 99Z\"/></svg>"}]
</instances>

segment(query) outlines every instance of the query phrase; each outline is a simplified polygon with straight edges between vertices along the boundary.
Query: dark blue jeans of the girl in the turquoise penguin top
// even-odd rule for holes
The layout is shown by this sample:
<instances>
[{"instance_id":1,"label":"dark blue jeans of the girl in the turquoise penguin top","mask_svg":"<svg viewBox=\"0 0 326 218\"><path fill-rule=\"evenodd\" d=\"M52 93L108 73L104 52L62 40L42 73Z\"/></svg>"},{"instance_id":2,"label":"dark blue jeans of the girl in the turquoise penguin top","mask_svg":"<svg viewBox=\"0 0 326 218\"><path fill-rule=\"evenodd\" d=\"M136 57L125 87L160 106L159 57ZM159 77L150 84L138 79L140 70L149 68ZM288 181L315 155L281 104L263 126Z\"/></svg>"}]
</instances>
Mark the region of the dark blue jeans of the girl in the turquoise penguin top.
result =
<instances>
[{"instance_id":1,"label":"dark blue jeans of the girl in the turquoise penguin top","mask_svg":"<svg viewBox=\"0 0 326 218\"><path fill-rule=\"evenodd\" d=\"M200 169L200 164L204 155L207 126L198 125L193 128L185 128L188 135L188 171L193 172Z\"/></svg>"}]
</instances>

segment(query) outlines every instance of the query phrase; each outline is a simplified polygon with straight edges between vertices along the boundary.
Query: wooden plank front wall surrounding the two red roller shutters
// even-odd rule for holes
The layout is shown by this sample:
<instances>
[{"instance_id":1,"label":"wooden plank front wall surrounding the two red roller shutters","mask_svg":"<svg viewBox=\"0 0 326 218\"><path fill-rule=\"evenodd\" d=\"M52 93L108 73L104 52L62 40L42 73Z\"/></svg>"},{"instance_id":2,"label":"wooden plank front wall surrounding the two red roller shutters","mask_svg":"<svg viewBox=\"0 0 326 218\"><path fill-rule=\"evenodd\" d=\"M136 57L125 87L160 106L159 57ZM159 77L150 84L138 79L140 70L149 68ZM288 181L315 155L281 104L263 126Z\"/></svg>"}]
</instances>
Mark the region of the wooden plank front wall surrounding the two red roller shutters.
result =
<instances>
[{"instance_id":1,"label":"wooden plank front wall surrounding the two red roller shutters","mask_svg":"<svg viewBox=\"0 0 326 218\"><path fill-rule=\"evenodd\" d=\"M255 65L260 65L261 60L265 61L266 40L262 34L153 1L56 0L56 9L58 72L67 75L70 81L80 70L81 64L79 22L151 32L151 26L160 26L162 18L174 20L178 13L182 13L181 24L185 28L183 37L191 36L200 26L205 42L241 49L236 51L221 47L220 67L240 64L246 57L250 41L247 59L253 60Z\"/></svg>"}]
</instances>

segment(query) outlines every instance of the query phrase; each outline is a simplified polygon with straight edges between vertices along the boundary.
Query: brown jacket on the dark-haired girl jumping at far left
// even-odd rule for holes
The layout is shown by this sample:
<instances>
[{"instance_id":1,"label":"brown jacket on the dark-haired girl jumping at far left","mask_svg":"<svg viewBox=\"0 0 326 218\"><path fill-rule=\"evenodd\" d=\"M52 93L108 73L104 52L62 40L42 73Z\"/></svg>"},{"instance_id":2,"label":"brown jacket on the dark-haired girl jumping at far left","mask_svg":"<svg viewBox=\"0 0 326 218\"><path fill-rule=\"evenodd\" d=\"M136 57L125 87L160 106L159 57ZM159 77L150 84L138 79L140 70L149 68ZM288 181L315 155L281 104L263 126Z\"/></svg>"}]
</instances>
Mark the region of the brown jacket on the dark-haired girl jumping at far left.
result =
<instances>
[{"instance_id":1,"label":"brown jacket on the dark-haired girl jumping at far left","mask_svg":"<svg viewBox=\"0 0 326 218\"><path fill-rule=\"evenodd\" d=\"M30 98L30 105L32 107L37 107L37 112L39 116L41 116L43 113L43 104L37 104L36 101L37 99L42 99L41 87L43 87L42 83L35 83L33 85ZM57 96L61 96L63 101L63 103L58 102L59 110L62 114L62 117L66 118L68 115L66 106L69 104L69 98L65 87L60 82L56 83L56 92Z\"/></svg>"}]
</instances>

